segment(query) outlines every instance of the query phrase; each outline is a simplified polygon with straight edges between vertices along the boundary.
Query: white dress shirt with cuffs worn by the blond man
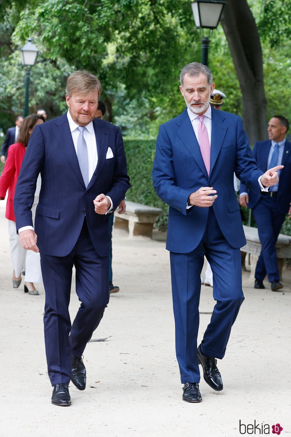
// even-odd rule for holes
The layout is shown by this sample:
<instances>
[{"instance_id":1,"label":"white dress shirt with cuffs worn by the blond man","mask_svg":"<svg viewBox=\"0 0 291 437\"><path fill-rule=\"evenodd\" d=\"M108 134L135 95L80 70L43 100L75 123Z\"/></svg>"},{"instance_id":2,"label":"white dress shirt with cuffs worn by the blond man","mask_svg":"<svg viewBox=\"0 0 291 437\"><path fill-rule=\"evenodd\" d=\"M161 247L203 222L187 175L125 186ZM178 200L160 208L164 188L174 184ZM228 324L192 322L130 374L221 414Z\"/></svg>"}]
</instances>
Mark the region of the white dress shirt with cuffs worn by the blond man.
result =
<instances>
[{"instance_id":1,"label":"white dress shirt with cuffs worn by the blond man","mask_svg":"<svg viewBox=\"0 0 291 437\"><path fill-rule=\"evenodd\" d=\"M79 125L73 121L70 111L67 112L68 117L68 123L70 126L70 131L75 147L75 152L77 154L77 142L78 137L80 134L80 131L78 130ZM89 182L92 179L94 170L96 169L97 163L98 163L98 154L97 154L97 145L96 145L96 136L94 131L93 122L89 123L89 125L85 126L84 132L83 132L84 139L87 144L87 150L88 150L88 161L89 161ZM96 194L97 195L97 194ZM109 196L106 196L110 200L110 208L106 211L106 214L110 212L113 209L113 203ZM26 229L33 229L32 226L23 226L22 228L18 229L18 233L25 231Z\"/></svg>"}]
</instances>

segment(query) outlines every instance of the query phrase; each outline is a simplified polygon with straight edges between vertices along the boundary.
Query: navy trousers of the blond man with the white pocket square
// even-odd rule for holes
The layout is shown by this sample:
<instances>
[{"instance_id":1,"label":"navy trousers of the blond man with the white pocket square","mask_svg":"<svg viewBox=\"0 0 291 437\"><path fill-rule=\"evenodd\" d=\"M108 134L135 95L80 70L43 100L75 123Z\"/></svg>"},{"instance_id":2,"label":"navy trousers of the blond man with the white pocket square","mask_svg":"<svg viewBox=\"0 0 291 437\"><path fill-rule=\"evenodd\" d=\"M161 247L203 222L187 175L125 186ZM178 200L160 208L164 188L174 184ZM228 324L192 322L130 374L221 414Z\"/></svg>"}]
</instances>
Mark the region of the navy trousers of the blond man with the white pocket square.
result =
<instances>
[{"instance_id":1,"label":"navy trousers of the blond man with the white pocket square","mask_svg":"<svg viewBox=\"0 0 291 437\"><path fill-rule=\"evenodd\" d=\"M76 269L76 293L81 302L71 325L72 268ZM71 380L71 354L80 358L109 302L109 256L97 255L86 218L75 247L66 257L41 254L45 287L45 351L51 385Z\"/></svg>"}]
</instances>

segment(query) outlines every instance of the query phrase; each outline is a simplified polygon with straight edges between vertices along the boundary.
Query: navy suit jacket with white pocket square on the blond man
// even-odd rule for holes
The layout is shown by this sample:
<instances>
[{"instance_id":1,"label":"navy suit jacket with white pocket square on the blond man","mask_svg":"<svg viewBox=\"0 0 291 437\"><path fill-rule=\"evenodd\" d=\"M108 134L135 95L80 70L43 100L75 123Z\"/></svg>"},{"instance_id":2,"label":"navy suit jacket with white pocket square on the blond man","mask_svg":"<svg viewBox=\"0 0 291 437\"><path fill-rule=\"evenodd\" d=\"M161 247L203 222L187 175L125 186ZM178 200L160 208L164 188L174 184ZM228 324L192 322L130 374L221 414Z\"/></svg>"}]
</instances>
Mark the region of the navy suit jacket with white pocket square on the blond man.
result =
<instances>
[{"instance_id":1,"label":"navy suit jacket with white pocket square on the blond man","mask_svg":"<svg viewBox=\"0 0 291 437\"><path fill-rule=\"evenodd\" d=\"M116 209L130 187L120 128L93 120L98 152L96 170L86 189L70 132L67 114L34 128L14 194L17 230L32 225L31 206L38 174L41 191L35 215L40 253L63 257L80 235L85 212L93 246L99 256L109 255L110 215L94 211L98 194L110 196ZM106 159L108 147L113 158Z\"/></svg>"}]
</instances>

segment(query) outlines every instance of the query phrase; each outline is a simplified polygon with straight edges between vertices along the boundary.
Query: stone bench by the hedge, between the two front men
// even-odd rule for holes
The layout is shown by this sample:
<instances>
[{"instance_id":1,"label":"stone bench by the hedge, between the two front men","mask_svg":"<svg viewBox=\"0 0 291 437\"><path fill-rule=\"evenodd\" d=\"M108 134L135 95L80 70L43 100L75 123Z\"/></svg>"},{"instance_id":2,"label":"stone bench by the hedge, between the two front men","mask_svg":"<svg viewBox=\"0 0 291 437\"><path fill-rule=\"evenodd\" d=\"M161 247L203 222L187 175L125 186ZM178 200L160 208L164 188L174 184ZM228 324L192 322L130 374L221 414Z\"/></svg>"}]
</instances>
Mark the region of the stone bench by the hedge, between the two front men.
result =
<instances>
[{"instance_id":1,"label":"stone bench by the hedge, between the two front men","mask_svg":"<svg viewBox=\"0 0 291 437\"><path fill-rule=\"evenodd\" d=\"M154 223L162 210L128 200L125 203L123 214L118 214L118 209L114 212L114 227L128 230L130 237L142 235L151 238Z\"/></svg>"}]
</instances>

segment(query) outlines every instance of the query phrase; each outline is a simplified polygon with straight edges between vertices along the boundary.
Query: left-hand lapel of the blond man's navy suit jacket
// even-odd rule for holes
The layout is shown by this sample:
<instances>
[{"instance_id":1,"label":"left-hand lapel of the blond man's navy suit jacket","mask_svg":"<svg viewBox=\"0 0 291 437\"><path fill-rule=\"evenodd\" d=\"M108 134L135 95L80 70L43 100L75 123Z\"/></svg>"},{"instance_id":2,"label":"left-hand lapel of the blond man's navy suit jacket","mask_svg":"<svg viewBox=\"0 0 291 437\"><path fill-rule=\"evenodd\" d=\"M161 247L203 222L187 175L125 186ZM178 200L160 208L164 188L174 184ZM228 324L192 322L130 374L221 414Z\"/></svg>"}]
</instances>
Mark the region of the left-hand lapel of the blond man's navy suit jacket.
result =
<instances>
[{"instance_id":1,"label":"left-hand lapel of the blond man's navy suit jacket","mask_svg":"<svg viewBox=\"0 0 291 437\"><path fill-rule=\"evenodd\" d=\"M68 124L67 114L63 114L55 121L53 132L56 139L58 140L59 145L62 148L62 151L64 152L68 163L72 167L73 172L85 188L84 180L79 166L79 161L72 139L72 134L70 131L70 126Z\"/></svg>"}]
</instances>

